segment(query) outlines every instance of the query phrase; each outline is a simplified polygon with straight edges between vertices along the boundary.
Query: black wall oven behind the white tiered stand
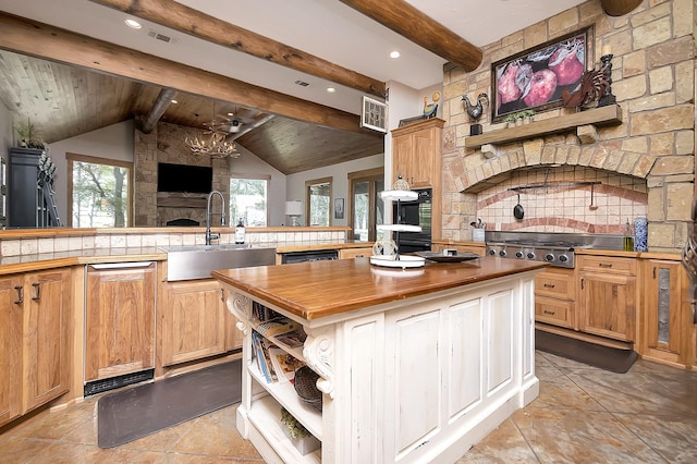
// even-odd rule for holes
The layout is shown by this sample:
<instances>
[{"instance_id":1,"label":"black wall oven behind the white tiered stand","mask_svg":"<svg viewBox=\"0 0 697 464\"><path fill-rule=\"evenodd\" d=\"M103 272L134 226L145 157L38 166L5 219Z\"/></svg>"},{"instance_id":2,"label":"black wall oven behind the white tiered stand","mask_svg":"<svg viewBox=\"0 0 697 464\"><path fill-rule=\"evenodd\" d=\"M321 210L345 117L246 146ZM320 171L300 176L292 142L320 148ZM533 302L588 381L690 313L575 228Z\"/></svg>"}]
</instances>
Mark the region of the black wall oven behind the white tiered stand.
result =
<instances>
[{"instance_id":1,"label":"black wall oven behind the white tiered stand","mask_svg":"<svg viewBox=\"0 0 697 464\"><path fill-rule=\"evenodd\" d=\"M418 198L392 204L392 223L420 225L420 232L400 232L400 253L430 252L431 249L431 190L414 190Z\"/></svg>"}]
</instances>

